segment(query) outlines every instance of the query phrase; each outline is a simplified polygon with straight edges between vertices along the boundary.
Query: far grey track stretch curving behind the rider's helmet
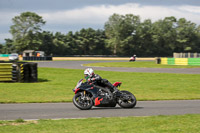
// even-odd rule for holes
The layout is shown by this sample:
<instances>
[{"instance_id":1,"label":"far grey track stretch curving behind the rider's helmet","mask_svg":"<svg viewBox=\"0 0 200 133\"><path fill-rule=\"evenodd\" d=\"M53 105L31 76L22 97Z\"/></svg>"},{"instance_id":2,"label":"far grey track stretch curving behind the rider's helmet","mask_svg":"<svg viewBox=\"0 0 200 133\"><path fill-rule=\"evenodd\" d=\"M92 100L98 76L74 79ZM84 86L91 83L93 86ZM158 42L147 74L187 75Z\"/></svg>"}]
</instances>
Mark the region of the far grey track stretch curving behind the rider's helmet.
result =
<instances>
[{"instance_id":1,"label":"far grey track stretch curving behind the rider's helmet","mask_svg":"<svg viewBox=\"0 0 200 133\"><path fill-rule=\"evenodd\" d=\"M85 69L82 64L111 62L111 61L52 61L38 62L39 67ZM119 61L112 61L119 62ZM127 61L121 61L127 62ZM124 68L124 67L92 67L94 70L103 71L120 71L120 72L149 72L149 73L183 73L183 74L200 74L200 68Z\"/></svg>"}]
</instances>

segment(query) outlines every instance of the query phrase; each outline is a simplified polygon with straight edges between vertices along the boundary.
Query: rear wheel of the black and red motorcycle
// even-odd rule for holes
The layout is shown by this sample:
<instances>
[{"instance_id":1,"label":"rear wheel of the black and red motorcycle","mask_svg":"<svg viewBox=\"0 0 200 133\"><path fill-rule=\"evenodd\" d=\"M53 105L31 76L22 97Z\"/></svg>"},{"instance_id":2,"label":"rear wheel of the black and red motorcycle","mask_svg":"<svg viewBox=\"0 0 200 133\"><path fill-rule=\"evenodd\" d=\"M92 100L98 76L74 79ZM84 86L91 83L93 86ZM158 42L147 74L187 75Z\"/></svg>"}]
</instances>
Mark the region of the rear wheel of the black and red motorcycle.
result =
<instances>
[{"instance_id":1,"label":"rear wheel of the black and red motorcycle","mask_svg":"<svg viewBox=\"0 0 200 133\"><path fill-rule=\"evenodd\" d=\"M137 100L136 97L129 91L120 91L121 95L118 98L118 104L122 108L135 107Z\"/></svg>"}]
</instances>

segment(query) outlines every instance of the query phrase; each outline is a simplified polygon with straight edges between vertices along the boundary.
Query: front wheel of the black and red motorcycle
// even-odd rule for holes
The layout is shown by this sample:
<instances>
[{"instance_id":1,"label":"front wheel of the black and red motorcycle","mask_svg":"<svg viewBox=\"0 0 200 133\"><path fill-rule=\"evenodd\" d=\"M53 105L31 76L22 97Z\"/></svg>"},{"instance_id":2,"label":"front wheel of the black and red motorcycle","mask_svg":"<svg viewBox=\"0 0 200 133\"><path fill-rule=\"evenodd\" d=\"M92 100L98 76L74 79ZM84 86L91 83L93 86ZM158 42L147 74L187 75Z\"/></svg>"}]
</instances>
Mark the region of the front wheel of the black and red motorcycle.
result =
<instances>
[{"instance_id":1,"label":"front wheel of the black and red motorcycle","mask_svg":"<svg viewBox=\"0 0 200 133\"><path fill-rule=\"evenodd\" d=\"M75 94L73 97L73 103L77 108L81 110L88 110L93 106L92 98L88 94L84 95L83 92Z\"/></svg>"}]
</instances>

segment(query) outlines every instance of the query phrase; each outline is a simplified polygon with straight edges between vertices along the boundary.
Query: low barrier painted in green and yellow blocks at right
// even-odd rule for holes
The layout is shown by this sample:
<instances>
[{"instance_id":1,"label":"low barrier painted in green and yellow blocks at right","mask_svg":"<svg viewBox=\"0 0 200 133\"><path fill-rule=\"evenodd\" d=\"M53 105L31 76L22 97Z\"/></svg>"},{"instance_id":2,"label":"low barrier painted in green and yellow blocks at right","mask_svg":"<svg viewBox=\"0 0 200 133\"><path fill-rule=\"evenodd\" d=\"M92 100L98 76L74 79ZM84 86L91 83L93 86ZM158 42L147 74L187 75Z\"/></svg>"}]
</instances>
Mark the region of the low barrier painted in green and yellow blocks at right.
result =
<instances>
[{"instance_id":1,"label":"low barrier painted in green and yellow blocks at right","mask_svg":"<svg viewBox=\"0 0 200 133\"><path fill-rule=\"evenodd\" d=\"M200 65L200 58L161 58L165 65Z\"/></svg>"}]
</instances>

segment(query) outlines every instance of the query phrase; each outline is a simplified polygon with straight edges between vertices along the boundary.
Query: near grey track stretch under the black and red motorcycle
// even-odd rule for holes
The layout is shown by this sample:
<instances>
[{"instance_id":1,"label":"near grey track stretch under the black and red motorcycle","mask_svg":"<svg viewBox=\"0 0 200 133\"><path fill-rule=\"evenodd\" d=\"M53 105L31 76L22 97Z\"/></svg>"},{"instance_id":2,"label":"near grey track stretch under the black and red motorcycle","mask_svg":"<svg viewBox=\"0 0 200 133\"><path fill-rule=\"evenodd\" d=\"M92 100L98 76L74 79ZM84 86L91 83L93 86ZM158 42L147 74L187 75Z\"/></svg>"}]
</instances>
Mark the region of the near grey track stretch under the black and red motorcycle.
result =
<instances>
[{"instance_id":1,"label":"near grey track stretch under the black and red motorcycle","mask_svg":"<svg viewBox=\"0 0 200 133\"><path fill-rule=\"evenodd\" d=\"M200 114L200 100L139 101L135 108L79 110L72 103L0 104L0 120Z\"/></svg>"}]
</instances>

